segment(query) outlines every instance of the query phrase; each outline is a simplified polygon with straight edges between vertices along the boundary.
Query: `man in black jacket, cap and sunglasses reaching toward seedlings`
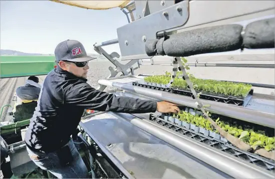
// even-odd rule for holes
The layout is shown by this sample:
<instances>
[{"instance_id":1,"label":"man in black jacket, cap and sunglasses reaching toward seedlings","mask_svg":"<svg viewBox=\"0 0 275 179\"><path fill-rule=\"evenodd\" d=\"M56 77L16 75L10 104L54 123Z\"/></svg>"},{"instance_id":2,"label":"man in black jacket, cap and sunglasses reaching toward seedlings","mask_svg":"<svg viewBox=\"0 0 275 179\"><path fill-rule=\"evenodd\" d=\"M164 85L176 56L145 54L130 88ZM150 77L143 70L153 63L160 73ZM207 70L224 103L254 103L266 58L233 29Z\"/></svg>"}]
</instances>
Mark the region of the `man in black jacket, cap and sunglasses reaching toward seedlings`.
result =
<instances>
[{"instance_id":1,"label":"man in black jacket, cap and sunglasses reaching toward seedlings","mask_svg":"<svg viewBox=\"0 0 275 179\"><path fill-rule=\"evenodd\" d=\"M128 113L177 112L172 103L115 96L91 87L82 43L66 40L55 49L57 68L44 80L38 105L25 135L32 160L58 178L87 178L88 171L70 135L85 108Z\"/></svg>"}]
</instances>

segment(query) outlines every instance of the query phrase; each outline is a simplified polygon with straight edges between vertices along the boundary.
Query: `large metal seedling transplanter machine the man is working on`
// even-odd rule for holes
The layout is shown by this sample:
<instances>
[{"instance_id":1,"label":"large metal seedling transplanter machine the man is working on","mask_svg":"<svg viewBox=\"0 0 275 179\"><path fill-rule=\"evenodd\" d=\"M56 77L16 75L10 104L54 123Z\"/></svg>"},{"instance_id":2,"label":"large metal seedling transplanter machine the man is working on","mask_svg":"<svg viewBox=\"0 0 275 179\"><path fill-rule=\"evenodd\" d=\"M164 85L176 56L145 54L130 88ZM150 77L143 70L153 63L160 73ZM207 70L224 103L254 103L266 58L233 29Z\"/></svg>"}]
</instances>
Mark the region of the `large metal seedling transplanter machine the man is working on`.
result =
<instances>
[{"instance_id":1,"label":"large metal seedling transplanter machine the man is working on","mask_svg":"<svg viewBox=\"0 0 275 179\"><path fill-rule=\"evenodd\" d=\"M273 1L52 1L87 9L119 7L125 13L129 23L117 28L118 38L94 44L94 49L116 66L109 67L107 78L98 80L99 90L166 100L181 108L177 114L84 111L72 138L92 178L274 177L274 96L253 92L253 86L274 85L199 79L187 72L190 61L185 58L274 48ZM246 25L239 24L244 20ZM115 43L121 56L103 49ZM135 74L140 59L165 55L173 58L170 72ZM119 57L129 61L122 63L116 59ZM47 74L55 64L46 63L43 71L29 68L16 76ZM199 61L194 64L201 65ZM2 77L15 77L2 70L9 61L1 65ZM214 66L274 68L274 64ZM1 126L4 177L53 177L37 168L28 156L24 132L29 121Z\"/></svg>"}]
</instances>

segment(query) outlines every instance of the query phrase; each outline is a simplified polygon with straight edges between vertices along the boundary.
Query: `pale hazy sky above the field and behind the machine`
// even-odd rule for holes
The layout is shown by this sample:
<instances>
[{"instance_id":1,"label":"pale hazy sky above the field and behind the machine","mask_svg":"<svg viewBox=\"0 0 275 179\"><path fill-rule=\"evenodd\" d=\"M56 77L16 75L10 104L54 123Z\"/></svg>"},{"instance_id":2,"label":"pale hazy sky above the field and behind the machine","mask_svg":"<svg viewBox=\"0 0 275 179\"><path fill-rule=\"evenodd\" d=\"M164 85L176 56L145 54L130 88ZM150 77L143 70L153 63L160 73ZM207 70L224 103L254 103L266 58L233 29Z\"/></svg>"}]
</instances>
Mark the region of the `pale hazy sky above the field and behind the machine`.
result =
<instances>
[{"instance_id":1,"label":"pale hazy sky above the field and behind the machine","mask_svg":"<svg viewBox=\"0 0 275 179\"><path fill-rule=\"evenodd\" d=\"M117 38L117 28L128 23L120 8L91 10L50 0L1 0L0 3L1 49L53 54L59 42L75 39L83 43L88 53L97 53L93 49L94 43ZM247 22L242 22L245 23ZM119 44L103 48L108 53L116 51L121 54ZM250 51L273 53L274 48L244 50L244 53L251 53ZM237 50L222 54L239 52ZM198 56L200 55L205 54Z\"/></svg>"}]
</instances>

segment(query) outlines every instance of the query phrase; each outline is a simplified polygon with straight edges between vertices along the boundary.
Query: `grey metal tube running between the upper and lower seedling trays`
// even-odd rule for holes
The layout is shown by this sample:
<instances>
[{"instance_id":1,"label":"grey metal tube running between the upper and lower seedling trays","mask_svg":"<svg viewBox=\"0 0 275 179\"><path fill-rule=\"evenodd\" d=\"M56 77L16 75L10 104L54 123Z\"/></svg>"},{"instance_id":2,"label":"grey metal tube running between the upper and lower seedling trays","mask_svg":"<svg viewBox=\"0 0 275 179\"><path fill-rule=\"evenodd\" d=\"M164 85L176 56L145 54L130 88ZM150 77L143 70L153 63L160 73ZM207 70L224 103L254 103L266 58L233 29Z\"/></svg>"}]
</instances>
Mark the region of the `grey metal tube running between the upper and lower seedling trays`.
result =
<instances>
[{"instance_id":1,"label":"grey metal tube running between the upper and lower seedling trays","mask_svg":"<svg viewBox=\"0 0 275 179\"><path fill-rule=\"evenodd\" d=\"M120 82L112 82L106 79L99 79L98 83L106 86L112 86L119 89L123 89L129 92L135 92L138 94L158 98L160 100L165 100L176 104L197 108L197 105L195 104L196 101L192 97L158 91L158 90L139 87L139 86L133 86L133 85L124 84ZM274 119L275 114L273 113L261 112L257 110L248 109L242 106L230 105L227 103L216 102L211 100L205 100L205 99L200 99L200 100L202 101L203 104L210 105L209 107L205 107L205 110L207 111L236 118L239 120L244 120L255 124L275 128L275 119Z\"/></svg>"}]
</instances>

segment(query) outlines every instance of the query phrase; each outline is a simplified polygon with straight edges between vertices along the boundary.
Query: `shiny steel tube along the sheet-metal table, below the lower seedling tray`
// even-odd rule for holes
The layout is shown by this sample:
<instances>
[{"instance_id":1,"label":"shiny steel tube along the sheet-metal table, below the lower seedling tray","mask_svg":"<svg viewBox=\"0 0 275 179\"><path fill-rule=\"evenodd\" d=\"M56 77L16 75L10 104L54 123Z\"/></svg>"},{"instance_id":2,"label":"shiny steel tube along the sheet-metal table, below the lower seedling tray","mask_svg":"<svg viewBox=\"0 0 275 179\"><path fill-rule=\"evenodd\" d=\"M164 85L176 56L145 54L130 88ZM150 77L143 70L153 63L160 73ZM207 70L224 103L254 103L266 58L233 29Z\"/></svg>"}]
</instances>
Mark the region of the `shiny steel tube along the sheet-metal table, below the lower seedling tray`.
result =
<instances>
[{"instance_id":1,"label":"shiny steel tube along the sheet-metal table, below the lower seedling tray","mask_svg":"<svg viewBox=\"0 0 275 179\"><path fill-rule=\"evenodd\" d=\"M123 117L123 114L112 113ZM130 114L128 114L130 116ZM243 162L239 158L232 158L229 154L217 151L215 148L209 148L203 143L195 142L187 137L171 132L163 127L153 124L140 118L123 117L130 120L135 126L149 132L152 135L164 140L165 142L189 153L190 155L202 160L205 163L225 172L234 178L269 178L273 173L263 171L258 166L252 166L251 163Z\"/></svg>"}]
</instances>

